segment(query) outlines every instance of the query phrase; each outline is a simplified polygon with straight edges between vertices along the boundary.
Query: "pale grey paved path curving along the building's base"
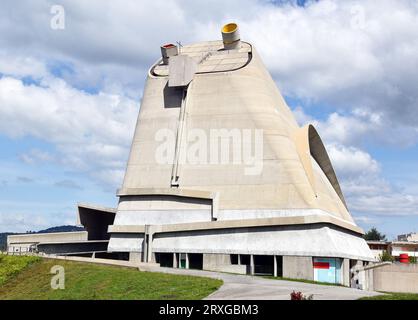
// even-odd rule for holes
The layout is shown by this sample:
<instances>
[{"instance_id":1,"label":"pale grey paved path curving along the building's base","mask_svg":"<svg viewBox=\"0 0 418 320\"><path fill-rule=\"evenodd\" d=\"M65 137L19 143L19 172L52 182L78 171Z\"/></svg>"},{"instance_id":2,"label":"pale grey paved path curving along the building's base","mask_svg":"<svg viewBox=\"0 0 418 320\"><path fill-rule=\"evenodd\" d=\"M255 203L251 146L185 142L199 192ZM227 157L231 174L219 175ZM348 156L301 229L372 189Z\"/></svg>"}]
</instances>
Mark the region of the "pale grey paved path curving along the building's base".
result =
<instances>
[{"instance_id":1,"label":"pale grey paved path curving along the building's base","mask_svg":"<svg viewBox=\"0 0 418 320\"><path fill-rule=\"evenodd\" d=\"M221 288L206 297L206 300L289 300L290 293L293 290L301 291L304 295L313 294L314 300L356 300L361 297L380 294L346 287L324 286L201 270L160 267L140 269L143 271L204 276L223 280L224 284Z\"/></svg>"}]
</instances>

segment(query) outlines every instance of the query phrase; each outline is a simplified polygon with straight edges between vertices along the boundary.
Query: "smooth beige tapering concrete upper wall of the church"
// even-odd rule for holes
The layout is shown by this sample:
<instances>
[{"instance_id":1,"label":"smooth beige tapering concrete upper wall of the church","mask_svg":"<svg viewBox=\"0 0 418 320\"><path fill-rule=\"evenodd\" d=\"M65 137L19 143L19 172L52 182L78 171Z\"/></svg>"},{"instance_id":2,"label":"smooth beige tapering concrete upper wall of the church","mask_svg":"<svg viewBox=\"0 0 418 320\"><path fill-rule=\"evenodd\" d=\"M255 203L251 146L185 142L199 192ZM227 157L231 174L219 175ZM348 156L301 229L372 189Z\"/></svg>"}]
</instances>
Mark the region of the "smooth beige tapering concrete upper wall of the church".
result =
<instances>
[{"instance_id":1,"label":"smooth beige tapering concrete upper wall of the church","mask_svg":"<svg viewBox=\"0 0 418 320\"><path fill-rule=\"evenodd\" d=\"M188 46L183 51L193 53ZM181 139L186 143L193 129L207 137L213 129L263 130L262 171L245 174L245 163L179 164L179 188L218 192L219 209L322 209L352 222L335 188L321 187L318 174L315 185L326 192L313 189L294 141L296 120L253 48L251 56L248 65L235 71L195 74L184 101ZM161 145L157 132L177 132L179 126L181 108L165 107L167 81L167 76L147 79L123 189L171 187L173 165L155 159Z\"/></svg>"}]
</instances>

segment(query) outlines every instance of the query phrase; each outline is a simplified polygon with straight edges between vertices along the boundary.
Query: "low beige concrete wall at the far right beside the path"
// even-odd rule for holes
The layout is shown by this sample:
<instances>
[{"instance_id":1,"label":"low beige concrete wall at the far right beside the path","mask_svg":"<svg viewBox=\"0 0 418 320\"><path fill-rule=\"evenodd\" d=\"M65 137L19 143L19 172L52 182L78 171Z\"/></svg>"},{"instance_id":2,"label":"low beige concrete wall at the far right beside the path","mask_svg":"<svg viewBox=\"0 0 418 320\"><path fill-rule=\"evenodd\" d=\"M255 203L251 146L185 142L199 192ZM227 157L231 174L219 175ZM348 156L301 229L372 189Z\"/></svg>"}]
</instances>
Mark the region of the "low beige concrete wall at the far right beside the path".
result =
<instances>
[{"instance_id":1,"label":"low beige concrete wall at the far right beside the path","mask_svg":"<svg viewBox=\"0 0 418 320\"><path fill-rule=\"evenodd\" d=\"M390 264L374 268L373 289L387 292L418 293L418 265L417 264ZM368 271L370 273L370 271Z\"/></svg>"}]
</instances>

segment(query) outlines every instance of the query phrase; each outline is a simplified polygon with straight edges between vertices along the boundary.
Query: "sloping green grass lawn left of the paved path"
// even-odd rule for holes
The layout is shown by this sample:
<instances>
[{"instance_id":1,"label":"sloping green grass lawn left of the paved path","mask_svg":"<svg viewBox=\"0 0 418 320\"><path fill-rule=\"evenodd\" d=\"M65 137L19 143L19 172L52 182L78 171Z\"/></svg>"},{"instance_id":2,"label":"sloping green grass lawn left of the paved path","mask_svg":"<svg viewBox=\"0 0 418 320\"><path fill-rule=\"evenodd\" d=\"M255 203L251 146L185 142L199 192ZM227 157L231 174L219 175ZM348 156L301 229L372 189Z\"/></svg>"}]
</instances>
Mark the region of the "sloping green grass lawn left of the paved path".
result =
<instances>
[{"instance_id":1,"label":"sloping green grass lawn left of the paved path","mask_svg":"<svg viewBox=\"0 0 418 320\"><path fill-rule=\"evenodd\" d=\"M64 290L51 289L50 270L54 265L65 269ZM203 277L41 259L0 285L0 300L197 300L221 285L221 280Z\"/></svg>"}]
</instances>

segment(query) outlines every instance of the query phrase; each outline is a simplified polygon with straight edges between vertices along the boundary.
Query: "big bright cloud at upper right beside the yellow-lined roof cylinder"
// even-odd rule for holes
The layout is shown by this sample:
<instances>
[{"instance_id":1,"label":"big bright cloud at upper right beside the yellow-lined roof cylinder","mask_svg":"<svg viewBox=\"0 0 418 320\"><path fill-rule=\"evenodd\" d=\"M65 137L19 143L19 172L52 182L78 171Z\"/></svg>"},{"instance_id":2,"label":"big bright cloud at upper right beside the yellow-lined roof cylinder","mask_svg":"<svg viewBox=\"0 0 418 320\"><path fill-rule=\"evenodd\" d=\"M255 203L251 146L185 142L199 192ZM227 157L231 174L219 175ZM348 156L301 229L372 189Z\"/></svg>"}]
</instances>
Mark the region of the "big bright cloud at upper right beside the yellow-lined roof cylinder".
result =
<instances>
[{"instance_id":1,"label":"big bright cloud at upper right beside the yellow-lined roof cylinder","mask_svg":"<svg viewBox=\"0 0 418 320\"><path fill-rule=\"evenodd\" d=\"M355 22L362 16L363 24ZM416 127L418 4L319 1L268 10L243 24L283 91L339 108L378 110ZM260 32L274 30L274 32Z\"/></svg>"}]
</instances>

